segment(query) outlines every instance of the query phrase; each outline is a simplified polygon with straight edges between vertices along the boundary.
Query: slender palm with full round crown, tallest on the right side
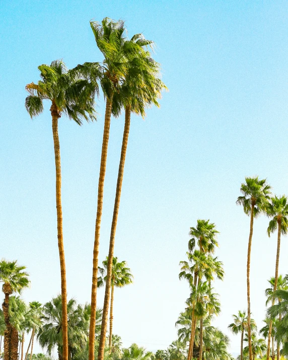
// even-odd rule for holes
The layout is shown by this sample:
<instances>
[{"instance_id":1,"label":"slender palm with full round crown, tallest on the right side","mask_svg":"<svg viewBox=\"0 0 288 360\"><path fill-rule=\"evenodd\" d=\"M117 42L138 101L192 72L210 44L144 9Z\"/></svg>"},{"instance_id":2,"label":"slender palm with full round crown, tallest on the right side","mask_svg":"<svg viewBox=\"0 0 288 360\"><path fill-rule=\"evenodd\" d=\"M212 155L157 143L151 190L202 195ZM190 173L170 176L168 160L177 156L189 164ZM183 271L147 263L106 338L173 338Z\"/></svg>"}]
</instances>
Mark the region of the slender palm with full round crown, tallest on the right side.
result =
<instances>
[{"instance_id":1,"label":"slender palm with full round crown, tallest on the right side","mask_svg":"<svg viewBox=\"0 0 288 360\"><path fill-rule=\"evenodd\" d=\"M266 211L268 200L270 199L270 185L266 179L259 180L258 176L246 177L245 183L241 184L240 191L243 196L239 196L236 203L243 205L244 212L250 215L250 234L247 253L247 304L248 304L248 348L249 360L252 360L251 344L251 309L250 309L250 258L253 235L253 221L261 212Z\"/></svg>"}]
</instances>

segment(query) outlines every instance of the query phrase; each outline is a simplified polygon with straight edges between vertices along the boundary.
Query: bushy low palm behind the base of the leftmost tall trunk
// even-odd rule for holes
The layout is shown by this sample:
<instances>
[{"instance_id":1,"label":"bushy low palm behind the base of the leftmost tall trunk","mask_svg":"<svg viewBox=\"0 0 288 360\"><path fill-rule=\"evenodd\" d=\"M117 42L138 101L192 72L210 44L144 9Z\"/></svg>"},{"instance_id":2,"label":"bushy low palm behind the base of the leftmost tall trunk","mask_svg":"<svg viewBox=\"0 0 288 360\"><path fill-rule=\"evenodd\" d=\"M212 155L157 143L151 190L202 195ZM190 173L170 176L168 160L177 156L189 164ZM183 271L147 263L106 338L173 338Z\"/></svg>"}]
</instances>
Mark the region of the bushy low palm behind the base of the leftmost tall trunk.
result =
<instances>
[{"instance_id":1,"label":"bushy low palm behind the base of the leftmost tall trunk","mask_svg":"<svg viewBox=\"0 0 288 360\"><path fill-rule=\"evenodd\" d=\"M58 358L62 360L63 338L62 338L62 302L61 296L53 298L43 306L44 325L38 332L37 339L42 347L47 347L47 352L51 355L54 347L57 347ZM89 334L89 324L91 306L77 305L76 300L71 299L67 302L68 315L68 356L74 356L86 347ZM96 326L99 326L102 312L97 310Z\"/></svg>"}]
</instances>

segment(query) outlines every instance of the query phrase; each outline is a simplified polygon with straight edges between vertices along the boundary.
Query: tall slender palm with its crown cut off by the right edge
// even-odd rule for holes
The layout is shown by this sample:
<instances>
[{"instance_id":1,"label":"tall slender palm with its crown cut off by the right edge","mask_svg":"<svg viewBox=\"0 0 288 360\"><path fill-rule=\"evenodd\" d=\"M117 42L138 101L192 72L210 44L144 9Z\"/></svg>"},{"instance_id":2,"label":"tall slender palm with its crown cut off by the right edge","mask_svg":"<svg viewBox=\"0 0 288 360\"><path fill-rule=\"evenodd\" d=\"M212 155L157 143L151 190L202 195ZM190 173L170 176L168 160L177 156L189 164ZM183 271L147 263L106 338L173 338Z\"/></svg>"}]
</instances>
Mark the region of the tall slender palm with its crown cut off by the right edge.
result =
<instances>
[{"instance_id":1,"label":"tall slender palm with its crown cut off by the right edge","mask_svg":"<svg viewBox=\"0 0 288 360\"><path fill-rule=\"evenodd\" d=\"M278 229L278 236L277 236L277 253L276 253L276 264L275 264L275 277L274 277L274 291L277 290L277 280L278 280L278 268L279 268L279 257L280 257L280 241L281 241L281 234L286 235L288 230L288 204L287 204L287 197L281 196L271 198L271 202L267 207L267 214L269 217L272 217L272 220L269 222L269 226L267 229L268 236ZM275 303L275 298L272 299L272 306ZM270 353L270 337L272 331L272 319L270 320L269 324L269 334L268 334L268 345L267 345L267 358Z\"/></svg>"}]
</instances>

